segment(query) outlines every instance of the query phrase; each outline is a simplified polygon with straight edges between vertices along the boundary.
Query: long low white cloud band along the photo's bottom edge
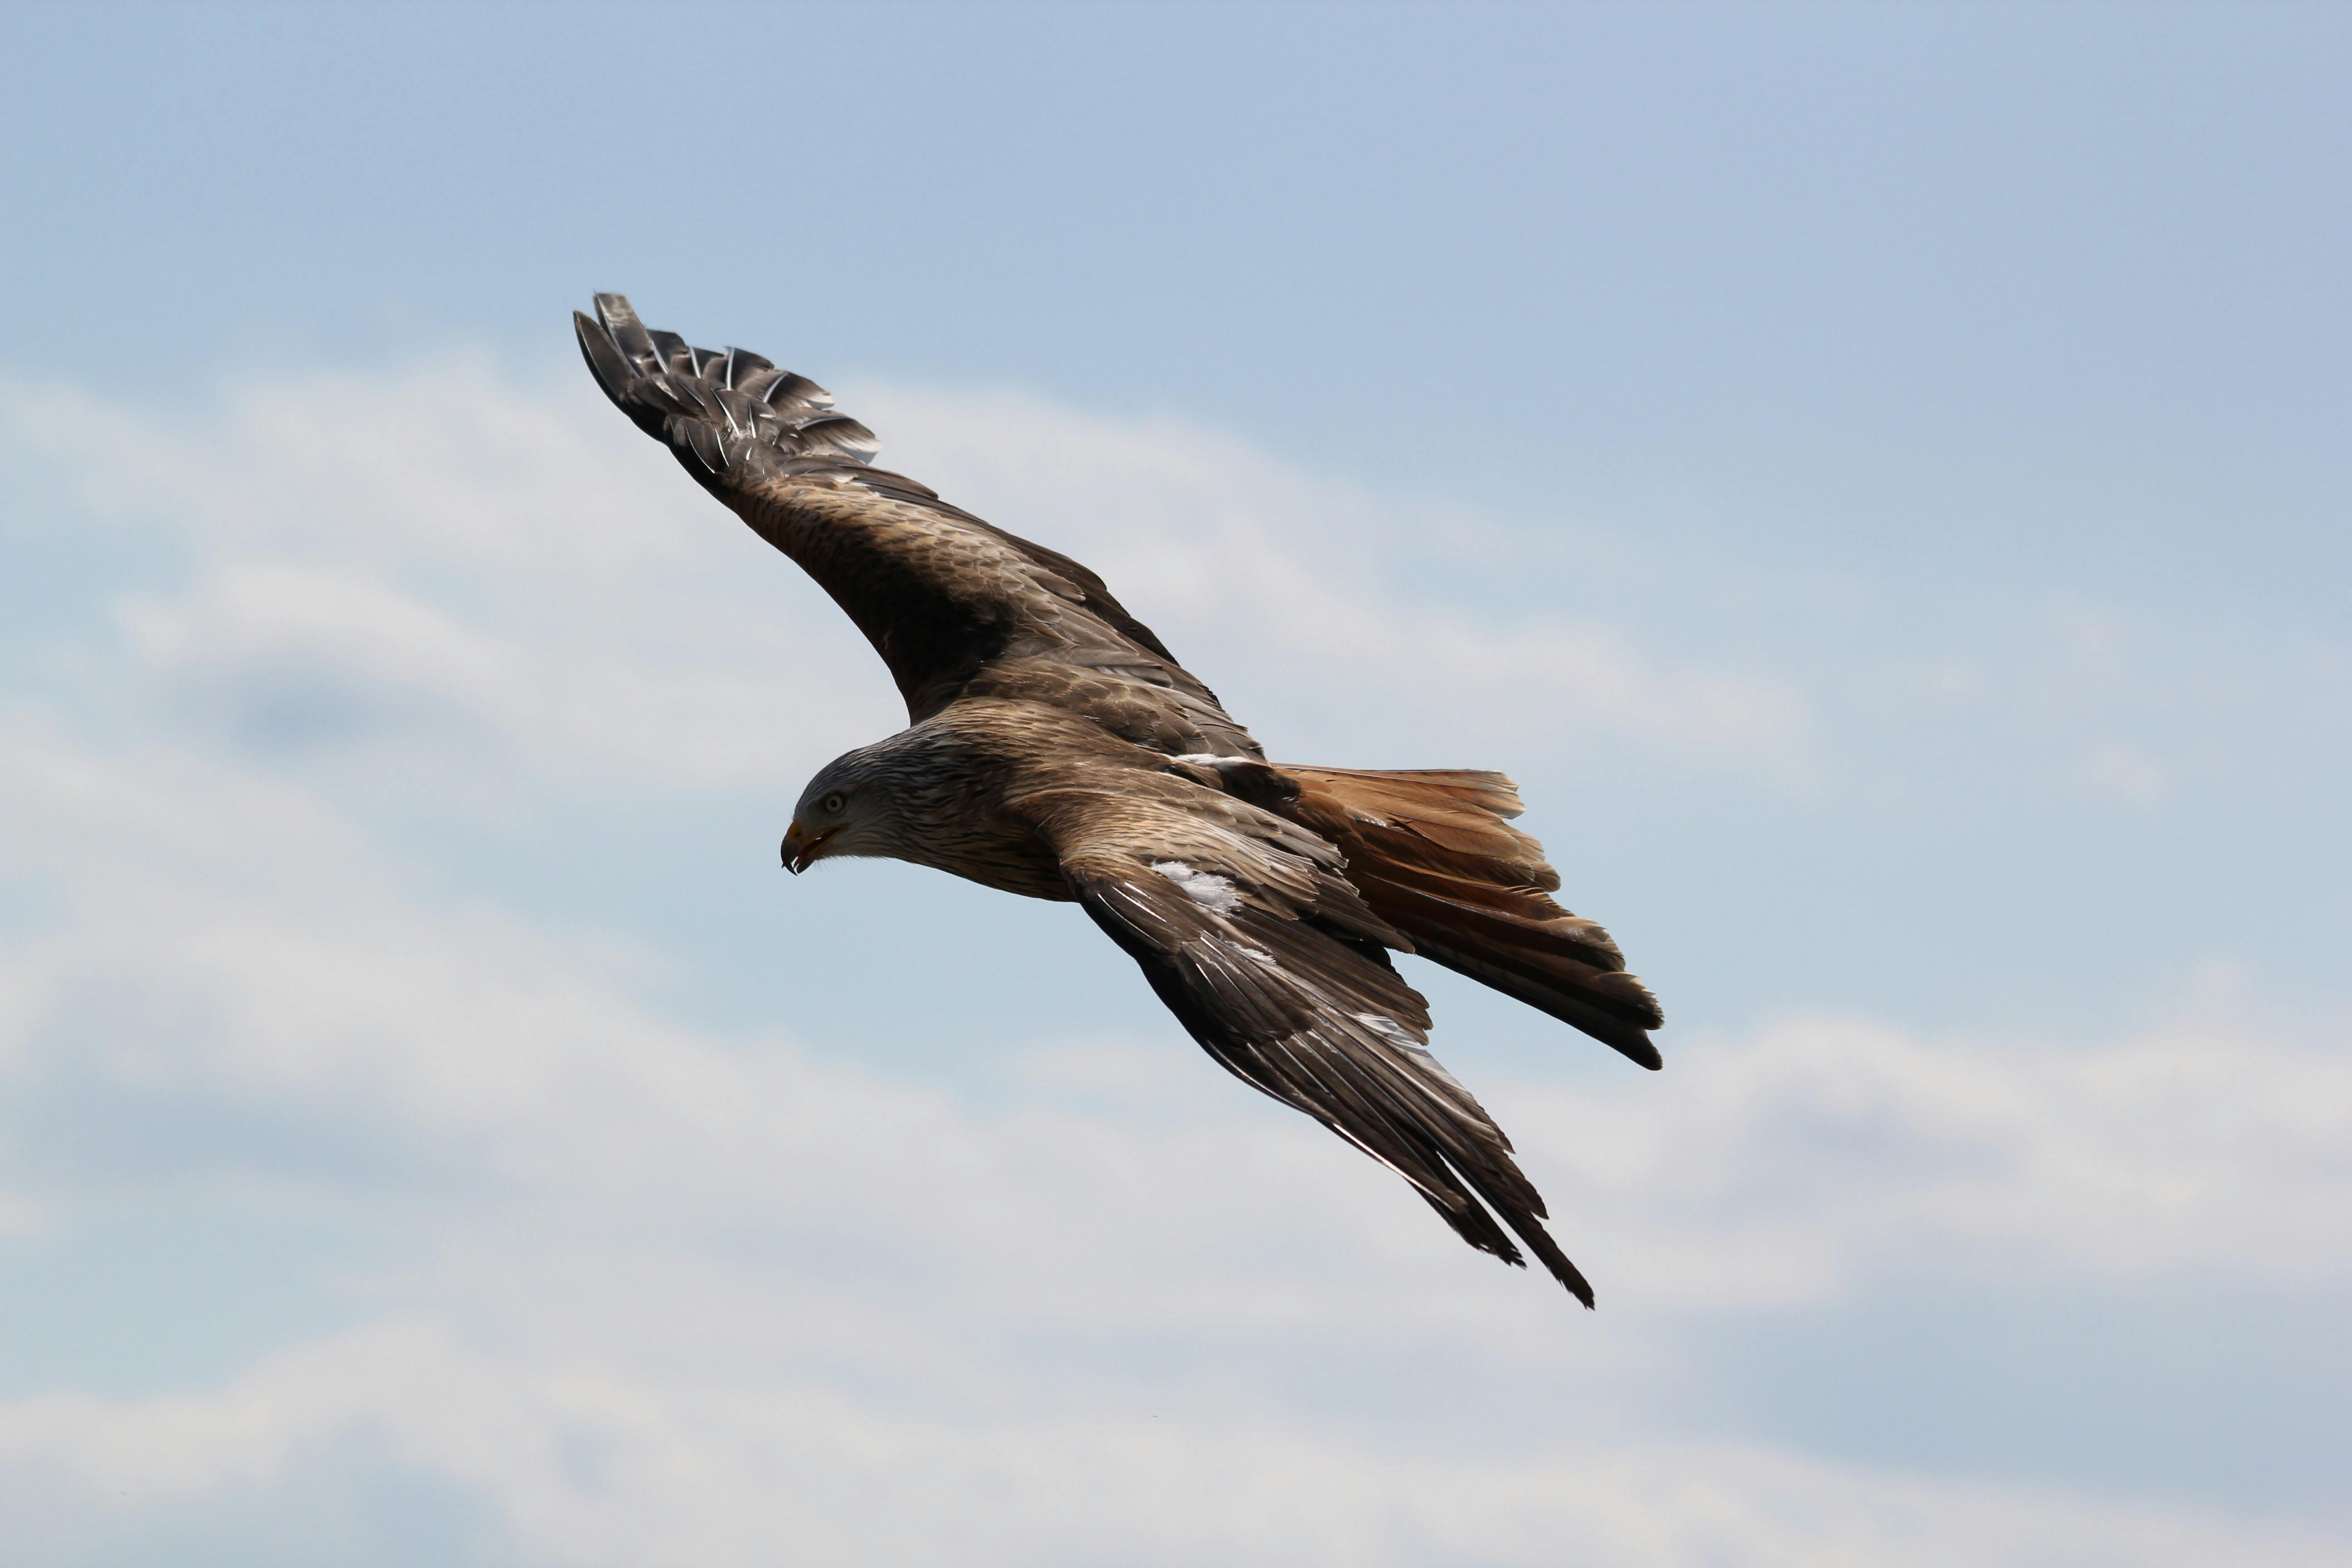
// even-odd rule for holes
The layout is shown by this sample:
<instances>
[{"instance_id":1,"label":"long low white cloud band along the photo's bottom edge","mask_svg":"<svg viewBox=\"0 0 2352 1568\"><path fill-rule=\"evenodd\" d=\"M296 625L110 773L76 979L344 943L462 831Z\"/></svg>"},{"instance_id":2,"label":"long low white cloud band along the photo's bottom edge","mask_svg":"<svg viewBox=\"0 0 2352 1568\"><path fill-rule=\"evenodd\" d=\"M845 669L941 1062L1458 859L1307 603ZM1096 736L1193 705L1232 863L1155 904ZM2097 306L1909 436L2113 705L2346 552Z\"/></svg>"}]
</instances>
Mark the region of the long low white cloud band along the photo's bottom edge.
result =
<instances>
[{"instance_id":1,"label":"long low white cloud band along the photo's bottom edge","mask_svg":"<svg viewBox=\"0 0 2352 1568\"><path fill-rule=\"evenodd\" d=\"M1750 1446L1559 1443L1399 1455L1174 1410L938 1420L821 1387L647 1385L480 1356L388 1324L200 1399L0 1410L0 1462L89 1493L268 1486L362 1427L494 1497L529 1561L1740 1563L1755 1568L2265 1568L2331 1563L2291 1530L2180 1507L1870 1474ZM19 1469L19 1474L21 1474ZM120 1505L118 1505L120 1507Z\"/></svg>"}]
</instances>

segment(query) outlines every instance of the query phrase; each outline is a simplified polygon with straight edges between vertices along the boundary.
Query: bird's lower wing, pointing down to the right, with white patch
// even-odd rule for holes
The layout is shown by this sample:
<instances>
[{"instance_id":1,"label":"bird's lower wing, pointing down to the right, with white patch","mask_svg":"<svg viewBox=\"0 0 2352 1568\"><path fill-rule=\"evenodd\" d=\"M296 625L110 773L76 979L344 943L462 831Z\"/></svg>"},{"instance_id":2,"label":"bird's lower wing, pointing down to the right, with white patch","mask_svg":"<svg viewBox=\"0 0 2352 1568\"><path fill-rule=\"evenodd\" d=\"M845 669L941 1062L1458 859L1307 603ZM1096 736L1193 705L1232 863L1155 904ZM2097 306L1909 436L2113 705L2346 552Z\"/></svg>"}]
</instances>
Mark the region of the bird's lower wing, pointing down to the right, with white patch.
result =
<instances>
[{"instance_id":1,"label":"bird's lower wing, pointing down to the right, with white patch","mask_svg":"<svg viewBox=\"0 0 2352 1568\"><path fill-rule=\"evenodd\" d=\"M1167 776L1033 788L1007 809L1218 1065L1409 1180L1470 1246L1522 1265L1508 1225L1592 1305L1510 1138L1430 1056L1428 1001L1385 952L1411 943L1327 839Z\"/></svg>"}]
</instances>

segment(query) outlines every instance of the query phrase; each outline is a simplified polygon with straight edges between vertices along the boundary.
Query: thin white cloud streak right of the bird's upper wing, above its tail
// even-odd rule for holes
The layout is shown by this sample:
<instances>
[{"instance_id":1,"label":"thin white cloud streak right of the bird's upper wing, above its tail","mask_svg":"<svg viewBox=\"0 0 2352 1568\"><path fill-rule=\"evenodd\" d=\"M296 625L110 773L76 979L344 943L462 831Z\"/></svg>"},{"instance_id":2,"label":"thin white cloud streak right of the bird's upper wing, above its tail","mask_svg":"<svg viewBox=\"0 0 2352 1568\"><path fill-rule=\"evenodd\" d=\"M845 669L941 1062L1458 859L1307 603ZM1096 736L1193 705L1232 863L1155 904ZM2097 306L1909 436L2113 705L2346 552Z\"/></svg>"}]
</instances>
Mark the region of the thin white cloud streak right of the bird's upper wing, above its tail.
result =
<instances>
[{"instance_id":1,"label":"thin white cloud streak right of the bird's upper wing, above its tail","mask_svg":"<svg viewBox=\"0 0 2352 1568\"><path fill-rule=\"evenodd\" d=\"M1545 743L1606 733L1771 776L1804 766L1809 705L1783 677L1672 663L1618 625L1552 609L1444 607L1432 569L1510 581L1496 529L1430 501L1312 480L1176 423L1091 418L1030 397L861 390L943 494L1089 559L1209 672L1272 668L1341 703ZM1397 578L1418 581L1402 597ZM1491 595L1489 595L1491 597ZM1279 748L1277 748L1279 750Z\"/></svg>"}]
</instances>

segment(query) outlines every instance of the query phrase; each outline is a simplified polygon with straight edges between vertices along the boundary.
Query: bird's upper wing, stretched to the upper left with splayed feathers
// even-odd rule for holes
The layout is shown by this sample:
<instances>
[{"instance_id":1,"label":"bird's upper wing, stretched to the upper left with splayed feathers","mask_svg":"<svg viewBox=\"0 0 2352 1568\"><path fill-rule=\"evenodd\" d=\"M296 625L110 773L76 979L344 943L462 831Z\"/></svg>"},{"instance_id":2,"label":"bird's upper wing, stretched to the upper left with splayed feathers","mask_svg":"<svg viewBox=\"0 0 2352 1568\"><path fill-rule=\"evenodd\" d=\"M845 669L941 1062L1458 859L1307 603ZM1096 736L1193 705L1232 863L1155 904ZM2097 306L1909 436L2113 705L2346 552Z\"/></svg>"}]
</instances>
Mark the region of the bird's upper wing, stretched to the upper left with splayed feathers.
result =
<instances>
[{"instance_id":1,"label":"bird's upper wing, stretched to the upper left with splayed feathers","mask_svg":"<svg viewBox=\"0 0 2352 1568\"><path fill-rule=\"evenodd\" d=\"M1258 745L1065 555L868 468L873 430L760 355L649 331L621 294L574 313L604 395L849 611L922 722L960 696L1082 712L1167 755Z\"/></svg>"}]
</instances>

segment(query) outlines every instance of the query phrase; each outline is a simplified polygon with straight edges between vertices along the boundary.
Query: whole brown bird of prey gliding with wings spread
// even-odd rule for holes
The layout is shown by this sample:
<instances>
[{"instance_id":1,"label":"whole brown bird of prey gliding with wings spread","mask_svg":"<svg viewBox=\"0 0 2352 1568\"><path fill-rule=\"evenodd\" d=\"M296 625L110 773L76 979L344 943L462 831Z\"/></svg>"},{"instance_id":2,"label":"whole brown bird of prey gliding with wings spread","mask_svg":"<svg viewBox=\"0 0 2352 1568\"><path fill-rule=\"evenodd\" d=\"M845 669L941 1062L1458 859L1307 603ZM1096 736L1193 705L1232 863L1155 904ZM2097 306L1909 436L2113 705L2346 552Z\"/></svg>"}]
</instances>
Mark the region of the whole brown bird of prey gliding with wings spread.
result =
<instances>
[{"instance_id":1,"label":"whole brown bird of prey gliding with wings spread","mask_svg":"<svg viewBox=\"0 0 2352 1568\"><path fill-rule=\"evenodd\" d=\"M889 856L1077 903L1218 1065L1522 1265L1508 1225L1592 1305L1388 957L1658 1065L1656 999L1606 931L1552 903L1508 778L1265 762L1103 578L873 468L880 442L807 376L652 331L621 294L574 324L604 395L800 562L906 696L908 729L809 780L786 867Z\"/></svg>"}]
</instances>

